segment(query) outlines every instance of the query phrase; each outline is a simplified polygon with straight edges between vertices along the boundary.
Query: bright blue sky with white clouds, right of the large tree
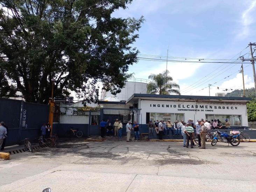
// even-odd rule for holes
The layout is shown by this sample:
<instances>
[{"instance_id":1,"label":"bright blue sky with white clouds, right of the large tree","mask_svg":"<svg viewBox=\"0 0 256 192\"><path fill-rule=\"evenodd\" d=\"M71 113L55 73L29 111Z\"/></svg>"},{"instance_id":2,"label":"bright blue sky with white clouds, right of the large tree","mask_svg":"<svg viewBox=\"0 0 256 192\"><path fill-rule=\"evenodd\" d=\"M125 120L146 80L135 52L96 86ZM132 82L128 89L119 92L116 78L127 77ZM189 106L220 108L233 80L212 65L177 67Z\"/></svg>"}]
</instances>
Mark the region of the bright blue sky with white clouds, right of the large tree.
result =
<instances>
[{"instance_id":1,"label":"bright blue sky with white clouds, right of the large tree","mask_svg":"<svg viewBox=\"0 0 256 192\"><path fill-rule=\"evenodd\" d=\"M256 0L134 0L127 9L113 14L123 18L142 15L145 22L133 44L140 54L166 57L168 50L172 60L183 57L230 62L229 59L244 54L244 58L250 57L250 49L246 47L256 42ZM254 87L252 66L248 62L243 65L245 87ZM212 85L211 96L243 87L241 64L168 62L167 66L182 95L209 95L208 84ZM129 73L134 73L135 78L148 79L151 73L165 69L164 61L140 60L129 67Z\"/></svg>"}]
</instances>

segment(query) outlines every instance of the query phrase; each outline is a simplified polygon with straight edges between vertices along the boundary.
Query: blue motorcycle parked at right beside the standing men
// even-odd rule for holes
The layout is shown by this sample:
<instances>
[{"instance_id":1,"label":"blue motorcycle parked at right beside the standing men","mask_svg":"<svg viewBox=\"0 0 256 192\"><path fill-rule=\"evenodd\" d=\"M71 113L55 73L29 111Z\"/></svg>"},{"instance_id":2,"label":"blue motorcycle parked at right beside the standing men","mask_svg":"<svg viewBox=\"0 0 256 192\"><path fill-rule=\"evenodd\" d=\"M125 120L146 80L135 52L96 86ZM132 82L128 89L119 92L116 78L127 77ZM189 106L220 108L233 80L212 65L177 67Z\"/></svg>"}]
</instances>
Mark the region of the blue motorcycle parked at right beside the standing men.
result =
<instances>
[{"instance_id":1,"label":"blue motorcycle parked at right beside the standing men","mask_svg":"<svg viewBox=\"0 0 256 192\"><path fill-rule=\"evenodd\" d=\"M224 132L220 132L219 130L216 130L214 132L214 137L213 137L213 140L212 140L212 146L216 145L216 143L218 141L221 141L223 143L229 143L233 146L237 146L240 144L240 134L237 134L237 135L233 135L233 134L227 134L227 133L224 133Z\"/></svg>"}]
</instances>

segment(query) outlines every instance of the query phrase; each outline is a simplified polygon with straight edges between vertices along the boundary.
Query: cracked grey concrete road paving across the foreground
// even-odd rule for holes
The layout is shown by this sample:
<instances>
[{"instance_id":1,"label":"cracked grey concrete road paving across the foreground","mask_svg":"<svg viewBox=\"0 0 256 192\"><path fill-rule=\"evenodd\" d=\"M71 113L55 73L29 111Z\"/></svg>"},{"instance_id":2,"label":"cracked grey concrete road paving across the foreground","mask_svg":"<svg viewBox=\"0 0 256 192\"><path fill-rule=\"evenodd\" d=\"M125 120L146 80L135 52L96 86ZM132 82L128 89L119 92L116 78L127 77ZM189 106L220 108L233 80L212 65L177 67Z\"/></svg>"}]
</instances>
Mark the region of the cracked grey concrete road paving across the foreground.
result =
<instances>
[{"instance_id":1,"label":"cracked grey concrete road paving across the foreground","mask_svg":"<svg viewBox=\"0 0 256 192\"><path fill-rule=\"evenodd\" d=\"M256 143L71 141L0 161L0 191L256 191Z\"/></svg>"}]
</instances>

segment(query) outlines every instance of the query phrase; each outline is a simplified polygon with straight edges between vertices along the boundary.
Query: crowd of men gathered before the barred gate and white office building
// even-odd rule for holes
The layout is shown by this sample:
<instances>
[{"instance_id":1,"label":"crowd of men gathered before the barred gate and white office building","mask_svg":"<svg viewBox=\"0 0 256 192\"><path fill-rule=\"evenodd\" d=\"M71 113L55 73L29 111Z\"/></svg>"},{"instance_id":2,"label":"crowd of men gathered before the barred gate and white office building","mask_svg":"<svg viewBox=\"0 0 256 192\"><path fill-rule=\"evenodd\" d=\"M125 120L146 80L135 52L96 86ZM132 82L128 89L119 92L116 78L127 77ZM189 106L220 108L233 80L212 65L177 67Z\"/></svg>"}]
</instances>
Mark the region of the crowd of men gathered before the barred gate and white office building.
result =
<instances>
[{"instance_id":1,"label":"crowd of men gathered before the barred gate and white office building","mask_svg":"<svg viewBox=\"0 0 256 192\"><path fill-rule=\"evenodd\" d=\"M230 128L230 122L228 119L225 120L225 127ZM114 122L114 125L109 122L109 120L104 121L102 120L100 123L100 129L101 129L101 137L105 136L105 131L107 133L107 136L118 136L119 138L122 138L122 128L123 124L120 120L116 119ZM176 136L183 136L183 147L190 147L193 148L195 146L193 139L197 135L198 137L198 147L201 149L205 149L205 137L206 137L206 131L211 129L222 129L224 128L223 124L219 119L207 121L204 119L197 120L196 123L192 119L189 119L187 122L184 122L181 120L180 122L176 120L175 122L171 122L171 120L164 121L164 120L156 120L152 122L152 120L148 123L148 135L150 137L154 135L154 131L159 137L159 140L163 139L163 135L169 136L170 132L173 137ZM132 124L131 121L128 121L126 125L126 133L127 138L126 141L131 141L131 131L134 130L134 138L135 141L140 140L140 131L139 131L139 124L134 121Z\"/></svg>"}]
</instances>

